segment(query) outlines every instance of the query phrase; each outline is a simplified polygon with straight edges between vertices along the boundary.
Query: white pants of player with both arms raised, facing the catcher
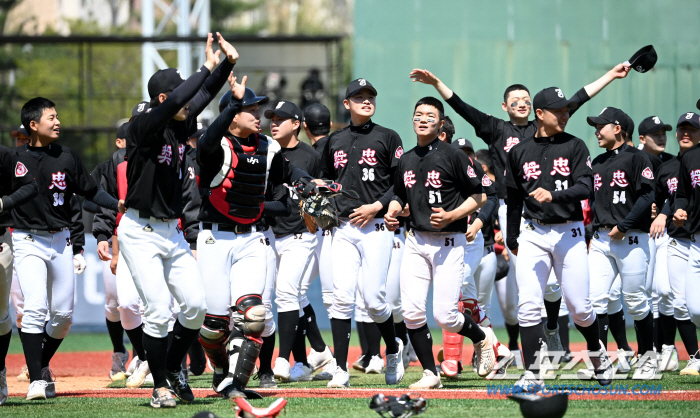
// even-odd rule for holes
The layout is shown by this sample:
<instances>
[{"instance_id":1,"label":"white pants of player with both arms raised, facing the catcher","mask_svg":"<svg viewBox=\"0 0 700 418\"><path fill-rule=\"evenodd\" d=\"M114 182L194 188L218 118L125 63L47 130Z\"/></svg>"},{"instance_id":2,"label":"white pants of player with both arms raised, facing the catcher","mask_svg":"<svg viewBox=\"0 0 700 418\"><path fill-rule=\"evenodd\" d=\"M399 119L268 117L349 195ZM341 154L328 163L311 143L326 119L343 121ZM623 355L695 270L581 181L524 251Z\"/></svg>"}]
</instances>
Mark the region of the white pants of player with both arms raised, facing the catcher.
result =
<instances>
[{"instance_id":1,"label":"white pants of player with both arms raised, facing the catcher","mask_svg":"<svg viewBox=\"0 0 700 418\"><path fill-rule=\"evenodd\" d=\"M177 220L139 219L138 210L129 209L121 218L118 235L120 257L129 266L144 305L143 332L155 338L168 335L171 295L180 308L180 324L199 329L207 312L206 297L197 262Z\"/></svg>"}]
</instances>

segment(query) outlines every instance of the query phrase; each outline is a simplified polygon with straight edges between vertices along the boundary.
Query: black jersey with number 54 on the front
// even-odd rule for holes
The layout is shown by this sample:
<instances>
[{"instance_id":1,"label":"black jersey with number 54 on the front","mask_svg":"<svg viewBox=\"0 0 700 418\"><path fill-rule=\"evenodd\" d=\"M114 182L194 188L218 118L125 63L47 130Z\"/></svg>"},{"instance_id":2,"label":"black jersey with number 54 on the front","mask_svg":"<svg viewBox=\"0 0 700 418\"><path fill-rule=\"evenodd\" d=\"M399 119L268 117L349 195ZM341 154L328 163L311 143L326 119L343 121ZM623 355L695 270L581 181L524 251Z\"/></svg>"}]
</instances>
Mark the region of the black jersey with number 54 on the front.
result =
<instances>
[{"instance_id":1,"label":"black jersey with number 54 on the front","mask_svg":"<svg viewBox=\"0 0 700 418\"><path fill-rule=\"evenodd\" d=\"M640 195L654 188L654 170L648 155L623 144L593 160L594 232L603 226L618 226L621 232L628 229L649 232L651 204L640 214L630 213ZM629 219L630 216L637 219ZM625 227L619 226L623 221L627 221Z\"/></svg>"}]
</instances>

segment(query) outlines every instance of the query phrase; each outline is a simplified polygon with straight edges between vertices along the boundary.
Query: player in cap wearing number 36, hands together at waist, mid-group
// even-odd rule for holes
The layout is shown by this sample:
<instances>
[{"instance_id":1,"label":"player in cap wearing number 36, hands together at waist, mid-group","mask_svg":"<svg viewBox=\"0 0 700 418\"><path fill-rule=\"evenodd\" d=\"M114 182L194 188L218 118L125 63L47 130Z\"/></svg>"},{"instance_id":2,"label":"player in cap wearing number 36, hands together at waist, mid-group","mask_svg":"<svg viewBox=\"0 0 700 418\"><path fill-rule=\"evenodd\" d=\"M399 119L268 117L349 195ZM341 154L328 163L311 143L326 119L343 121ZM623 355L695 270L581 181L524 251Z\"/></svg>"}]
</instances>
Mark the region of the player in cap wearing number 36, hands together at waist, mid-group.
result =
<instances>
[{"instance_id":1,"label":"player in cap wearing number 36, hands together at waist, mid-group","mask_svg":"<svg viewBox=\"0 0 700 418\"><path fill-rule=\"evenodd\" d=\"M359 195L357 201L345 196L335 198L340 226L333 235L335 294L330 317L337 366L328 387L350 386L350 320L358 287L386 344L385 381L397 384L403 379L403 342L396 338L391 307L386 301L393 234L382 219L394 193L393 174L403 146L396 132L372 121L376 95L377 90L363 78L348 84L343 104L350 111L350 126L334 132L321 155L324 176Z\"/></svg>"}]
</instances>

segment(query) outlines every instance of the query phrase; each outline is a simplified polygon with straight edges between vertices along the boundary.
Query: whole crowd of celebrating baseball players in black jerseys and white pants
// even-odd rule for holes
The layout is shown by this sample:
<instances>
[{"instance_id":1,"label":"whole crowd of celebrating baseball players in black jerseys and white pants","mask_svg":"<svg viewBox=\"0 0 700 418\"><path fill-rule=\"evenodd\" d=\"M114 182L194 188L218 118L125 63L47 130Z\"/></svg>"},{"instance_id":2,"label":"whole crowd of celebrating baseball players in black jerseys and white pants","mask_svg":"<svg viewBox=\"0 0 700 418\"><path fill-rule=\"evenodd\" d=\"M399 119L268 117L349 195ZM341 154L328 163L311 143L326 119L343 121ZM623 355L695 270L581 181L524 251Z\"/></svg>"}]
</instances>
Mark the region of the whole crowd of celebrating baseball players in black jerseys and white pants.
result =
<instances>
[{"instance_id":1,"label":"whole crowd of celebrating baseball players in black jerseys and white pants","mask_svg":"<svg viewBox=\"0 0 700 418\"><path fill-rule=\"evenodd\" d=\"M349 387L353 317L362 355L352 368L398 384L417 360L423 376L411 389L459 378L466 336L476 373L508 378L508 367L522 361L516 385L536 391L571 358L571 320L592 365L579 371L581 379L607 385L633 368L639 379L677 370L676 330L690 354L680 374L700 373L700 301L693 297L700 294L700 116L680 116L678 156L664 152L670 125L645 118L637 148L631 117L611 106L587 117L604 150L597 158L565 132L578 107L627 77L629 65L571 100L556 87L531 98L527 87L512 85L502 103L508 120L473 108L430 71L413 70L410 78L433 86L488 149L453 140L443 102L426 96L412 116L417 145L404 152L398 134L372 120L378 92L362 78L346 89L349 126L330 134L323 105L302 111L280 101L264 112L271 137L262 135L268 98L233 76L238 53L219 34L217 41L214 52L209 36L207 60L187 80L175 69L151 77L151 100L134 107L118 129L119 150L92 174L54 142L54 103L35 98L22 108L18 147L0 150L8 229L0 251L0 404L10 282L27 362L18 379L30 382L27 399L56 396L49 363L72 323L74 274L85 269L75 195L95 214L114 345L110 377L127 379L129 388L152 382L153 407L191 402L188 373L199 375L207 364L213 389L226 398L259 396L247 388L254 373L261 388L309 380ZM197 129L197 116L226 84L219 116ZM311 145L300 140L302 130ZM334 197L339 225L310 231L299 203L327 182L359 198ZM306 297L316 277L333 350ZM443 332L439 364L426 318L431 286ZM491 329L494 289L507 344ZM636 352L623 304L634 319ZM608 329L619 347L611 356Z\"/></svg>"}]
</instances>

